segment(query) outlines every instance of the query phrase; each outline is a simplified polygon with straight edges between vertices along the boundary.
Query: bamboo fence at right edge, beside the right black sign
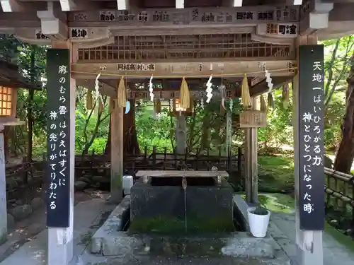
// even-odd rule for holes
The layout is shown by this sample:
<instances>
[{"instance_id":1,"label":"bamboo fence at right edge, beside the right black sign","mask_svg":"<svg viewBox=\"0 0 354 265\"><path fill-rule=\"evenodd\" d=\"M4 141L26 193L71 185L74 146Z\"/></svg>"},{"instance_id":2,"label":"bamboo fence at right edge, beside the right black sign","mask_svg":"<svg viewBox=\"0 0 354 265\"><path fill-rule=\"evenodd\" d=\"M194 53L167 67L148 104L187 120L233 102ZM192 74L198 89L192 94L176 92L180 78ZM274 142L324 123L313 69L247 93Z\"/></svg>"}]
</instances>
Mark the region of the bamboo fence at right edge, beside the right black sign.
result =
<instances>
[{"instance_id":1,"label":"bamboo fence at right edge, beside the right black sign","mask_svg":"<svg viewBox=\"0 0 354 265\"><path fill-rule=\"evenodd\" d=\"M354 236L354 176L324 168L326 216L331 225Z\"/></svg>"}]
</instances>

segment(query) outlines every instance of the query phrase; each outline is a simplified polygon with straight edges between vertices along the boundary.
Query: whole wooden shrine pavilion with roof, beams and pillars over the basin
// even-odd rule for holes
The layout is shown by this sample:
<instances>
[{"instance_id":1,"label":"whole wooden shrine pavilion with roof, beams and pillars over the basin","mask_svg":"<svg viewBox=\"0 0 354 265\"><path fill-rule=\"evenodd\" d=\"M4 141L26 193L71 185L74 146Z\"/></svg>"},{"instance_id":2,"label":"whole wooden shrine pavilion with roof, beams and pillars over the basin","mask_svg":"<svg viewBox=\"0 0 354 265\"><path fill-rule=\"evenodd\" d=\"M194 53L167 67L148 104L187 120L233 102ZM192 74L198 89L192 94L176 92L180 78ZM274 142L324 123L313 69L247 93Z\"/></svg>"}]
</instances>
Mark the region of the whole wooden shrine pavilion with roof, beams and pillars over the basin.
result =
<instances>
[{"instance_id":1,"label":"whole wooden shrine pavilion with roof, beams and pillars over the basin","mask_svg":"<svg viewBox=\"0 0 354 265\"><path fill-rule=\"evenodd\" d=\"M60 188L60 196L57 190L59 201L49 199L48 209L53 213L48 215L53 218L54 211L61 209L67 220L58 219L57 225L48 223L49 265L68 264L72 259L77 85L89 89L99 86L101 93L119 98L117 83L125 76L127 98L149 100L149 80L153 77L153 83L159 84L159 89L154 89L155 99L178 99L184 77L190 97L201 99L206 97L205 83L212 76L213 84L226 86L226 98L235 98L241 97L241 83L246 75L249 93L256 98L269 89L265 70L270 73L274 88L293 82L297 259L299 265L324 264L321 232L324 213L316 208L317 205L321 208L324 200L320 177L323 165L321 157L314 153L309 158L318 158L312 164L316 166L312 175L314 172L318 175L316 193L312 192L314 201L307 204L302 199L305 174L302 169L309 166L307 155L302 155L307 152L304 145L308 139L320 137L313 132L307 134L306 128L311 124L303 124L314 120L316 123L313 114L306 119L300 117L314 105L309 99L320 98L314 91L323 90L324 52L317 41L354 33L353 0L1 0L0 3L0 33L13 34L31 44L52 45L47 54L48 101L50 107L59 107L59 111L48 110L53 122L48 124L48 130L53 130L48 135L63 135L60 141L67 147L59 149L57 154L67 160L58 160L49 167L51 176L65 177L66 185ZM314 81L319 83L314 86ZM136 86L137 83L142 86ZM316 104L321 106L321 100ZM307 112L313 112L312 109ZM323 113L318 113L319 121ZM113 198L119 196L123 174L123 115L122 105L115 105L111 114ZM321 127L321 123L312 125ZM63 131L55 131L58 128ZM257 129L245 129L245 135L247 201L254 202ZM51 148L48 151L55 150L52 141L57 141L54 136L48 139ZM316 208L314 213L304 216L304 209L311 213L312 206ZM314 225L312 219L319 220L319 225Z\"/></svg>"}]
</instances>

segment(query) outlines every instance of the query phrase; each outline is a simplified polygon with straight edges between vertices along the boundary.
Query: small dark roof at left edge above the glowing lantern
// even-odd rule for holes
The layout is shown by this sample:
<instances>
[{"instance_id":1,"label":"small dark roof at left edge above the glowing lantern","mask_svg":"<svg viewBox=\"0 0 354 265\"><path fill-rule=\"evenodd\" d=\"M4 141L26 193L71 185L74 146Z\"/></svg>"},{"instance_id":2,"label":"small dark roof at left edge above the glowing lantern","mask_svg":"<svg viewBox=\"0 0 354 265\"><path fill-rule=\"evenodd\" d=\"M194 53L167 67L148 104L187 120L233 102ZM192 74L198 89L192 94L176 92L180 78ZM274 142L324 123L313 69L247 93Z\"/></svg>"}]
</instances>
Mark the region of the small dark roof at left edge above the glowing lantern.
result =
<instances>
[{"instance_id":1,"label":"small dark roof at left edge above the glowing lantern","mask_svg":"<svg viewBox=\"0 0 354 265\"><path fill-rule=\"evenodd\" d=\"M0 59L0 86L8 88L40 89L38 86L28 83L18 72L18 66Z\"/></svg>"}]
</instances>

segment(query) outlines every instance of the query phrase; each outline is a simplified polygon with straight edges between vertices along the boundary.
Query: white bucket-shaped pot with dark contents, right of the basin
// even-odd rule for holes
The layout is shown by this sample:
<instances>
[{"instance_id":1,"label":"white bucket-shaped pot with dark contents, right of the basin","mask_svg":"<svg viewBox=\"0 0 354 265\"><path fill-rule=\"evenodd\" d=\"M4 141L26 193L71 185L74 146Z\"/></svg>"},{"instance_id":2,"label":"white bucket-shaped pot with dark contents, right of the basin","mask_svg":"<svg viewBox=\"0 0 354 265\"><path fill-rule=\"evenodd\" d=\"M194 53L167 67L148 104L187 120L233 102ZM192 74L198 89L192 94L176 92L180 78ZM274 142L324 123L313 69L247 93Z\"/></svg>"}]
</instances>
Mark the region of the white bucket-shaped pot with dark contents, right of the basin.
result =
<instances>
[{"instance_id":1,"label":"white bucket-shaped pot with dark contents, right of the basin","mask_svg":"<svg viewBox=\"0 0 354 265\"><path fill-rule=\"evenodd\" d=\"M265 237L267 235L270 211L265 206L257 204L247 210L249 216L249 230L254 237Z\"/></svg>"}]
</instances>

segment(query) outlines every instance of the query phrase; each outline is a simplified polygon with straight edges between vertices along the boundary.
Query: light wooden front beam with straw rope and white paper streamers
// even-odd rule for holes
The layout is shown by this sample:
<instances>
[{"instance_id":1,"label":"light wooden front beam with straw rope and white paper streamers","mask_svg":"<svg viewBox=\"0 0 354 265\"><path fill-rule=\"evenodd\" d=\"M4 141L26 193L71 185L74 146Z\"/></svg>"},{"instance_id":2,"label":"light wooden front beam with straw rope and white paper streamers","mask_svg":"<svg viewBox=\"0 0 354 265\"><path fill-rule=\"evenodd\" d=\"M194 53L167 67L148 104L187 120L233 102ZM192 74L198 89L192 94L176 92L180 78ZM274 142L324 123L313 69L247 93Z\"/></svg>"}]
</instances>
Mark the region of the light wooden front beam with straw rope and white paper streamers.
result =
<instances>
[{"instance_id":1,"label":"light wooden front beam with straw rope and white paper streamers","mask_svg":"<svg viewBox=\"0 0 354 265\"><path fill-rule=\"evenodd\" d=\"M122 65L118 63L105 63L104 61L92 63L91 61L72 64L72 74L79 79L94 79L101 72L101 79L117 79L120 76L140 78L142 80L150 78L188 78L188 76L198 75L198 78L209 78L210 74L215 77L221 76L223 69L224 78L242 77L244 73L247 76L259 76L262 67L259 61L265 62L268 71L272 76L291 76L293 70L287 70L290 65L294 65L292 60L283 59L279 61L266 61L265 58L229 58L222 59L178 59L176 60L157 60L155 64L147 63L142 66L140 60L139 68L135 70L122 69ZM210 63L212 62L212 70ZM127 64L135 64L133 61L127 61ZM100 66L105 66L105 71L100 70ZM124 65L123 65L124 66ZM139 70L140 69L140 70ZM273 70L285 69L282 71L273 72ZM108 74L105 74L108 73ZM188 80L187 80L188 82Z\"/></svg>"}]
</instances>

